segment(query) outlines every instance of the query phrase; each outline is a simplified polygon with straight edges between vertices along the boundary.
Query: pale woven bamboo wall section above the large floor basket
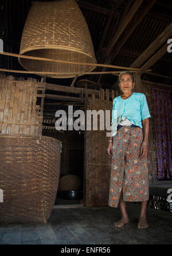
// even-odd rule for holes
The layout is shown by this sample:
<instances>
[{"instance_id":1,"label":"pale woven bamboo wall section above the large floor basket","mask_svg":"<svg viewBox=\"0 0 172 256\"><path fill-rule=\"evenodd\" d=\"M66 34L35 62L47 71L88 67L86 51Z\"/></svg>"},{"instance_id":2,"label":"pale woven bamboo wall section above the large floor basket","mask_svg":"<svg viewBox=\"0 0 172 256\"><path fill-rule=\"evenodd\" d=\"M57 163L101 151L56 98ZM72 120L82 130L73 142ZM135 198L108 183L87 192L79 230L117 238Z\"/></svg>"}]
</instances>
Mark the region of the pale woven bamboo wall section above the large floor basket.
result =
<instances>
[{"instance_id":1,"label":"pale woven bamboo wall section above the large floor basket","mask_svg":"<svg viewBox=\"0 0 172 256\"><path fill-rule=\"evenodd\" d=\"M42 134L45 85L28 78L0 76L0 132ZM39 104L38 104L39 103Z\"/></svg>"}]
</instances>

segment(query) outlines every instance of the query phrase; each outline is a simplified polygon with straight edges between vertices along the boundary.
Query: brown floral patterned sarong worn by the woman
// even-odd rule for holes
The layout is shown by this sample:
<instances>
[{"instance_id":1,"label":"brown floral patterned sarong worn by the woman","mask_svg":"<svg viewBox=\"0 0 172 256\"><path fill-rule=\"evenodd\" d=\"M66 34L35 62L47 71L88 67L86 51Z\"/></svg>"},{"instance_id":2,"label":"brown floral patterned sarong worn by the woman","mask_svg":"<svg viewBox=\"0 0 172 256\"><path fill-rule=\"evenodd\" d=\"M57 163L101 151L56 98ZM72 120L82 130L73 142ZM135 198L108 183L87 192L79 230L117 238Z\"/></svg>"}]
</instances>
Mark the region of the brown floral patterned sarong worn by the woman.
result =
<instances>
[{"instance_id":1,"label":"brown floral patterned sarong worn by the woman","mask_svg":"<svg viewBox=\"0 0 172 256\"><path fill-rule=\"evenodd\" d=\"M108 205L118 207L126 202L148 201L147 157L139 159L143 131L140 127L123 126L114 137Z\"/></svg>"}]
</instances>

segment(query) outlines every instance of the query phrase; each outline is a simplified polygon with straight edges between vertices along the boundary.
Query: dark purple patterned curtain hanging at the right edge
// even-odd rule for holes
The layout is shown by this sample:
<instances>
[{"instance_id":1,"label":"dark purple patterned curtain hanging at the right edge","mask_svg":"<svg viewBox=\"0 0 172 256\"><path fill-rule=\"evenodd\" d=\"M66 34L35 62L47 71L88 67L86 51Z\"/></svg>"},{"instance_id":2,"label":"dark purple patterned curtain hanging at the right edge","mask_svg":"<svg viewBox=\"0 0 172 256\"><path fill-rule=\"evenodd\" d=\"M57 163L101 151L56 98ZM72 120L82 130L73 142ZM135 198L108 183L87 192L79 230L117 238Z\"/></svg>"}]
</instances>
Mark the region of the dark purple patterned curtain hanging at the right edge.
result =
<instances>
[{"instance_id":1,"label":"dark purple patterned curtain hanging at the right edge","mask_svg":"<svg viewBox=\"0 0 172 256\"><path fill-rule=\"evenodd\" d=\"M172 107L169 91L152 88L158 179L172 179Z\"/></svg>"}]
</instances>

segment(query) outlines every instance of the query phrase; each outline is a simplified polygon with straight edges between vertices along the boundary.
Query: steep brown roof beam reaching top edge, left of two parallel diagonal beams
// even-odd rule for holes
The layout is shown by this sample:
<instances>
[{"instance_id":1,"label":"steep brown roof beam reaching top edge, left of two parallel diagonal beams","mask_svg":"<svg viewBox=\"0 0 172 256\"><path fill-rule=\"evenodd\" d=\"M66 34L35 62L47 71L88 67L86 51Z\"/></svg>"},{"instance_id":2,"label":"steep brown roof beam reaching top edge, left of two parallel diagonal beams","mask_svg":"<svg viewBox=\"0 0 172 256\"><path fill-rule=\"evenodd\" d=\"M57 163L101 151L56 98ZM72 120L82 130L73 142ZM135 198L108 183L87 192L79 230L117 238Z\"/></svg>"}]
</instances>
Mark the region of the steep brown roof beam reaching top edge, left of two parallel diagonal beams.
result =
<instances>
[{"instance_id":1,"label":"steep brown roof beam reaching top edge, left of two parallel diagonal beams","mask_svg":"<svg viewBox=\"0 0 172 256\"><path fill-rule=\"evenodd\" d=\"M134 5L131 7L130 11L128 12L127 16L124 18L122 24L118 28L118 31L116 31L115 36L112 38L111 43L107 47L107 53L106 56L108 57L111 54L112 49L114 48L116 42L118 41L119 37L122 35L124 30L126 29L129 22L134 17L135 13L138 11L140 5L142 5L144 0L136 0Z\"/></svg>"}]
</instances>

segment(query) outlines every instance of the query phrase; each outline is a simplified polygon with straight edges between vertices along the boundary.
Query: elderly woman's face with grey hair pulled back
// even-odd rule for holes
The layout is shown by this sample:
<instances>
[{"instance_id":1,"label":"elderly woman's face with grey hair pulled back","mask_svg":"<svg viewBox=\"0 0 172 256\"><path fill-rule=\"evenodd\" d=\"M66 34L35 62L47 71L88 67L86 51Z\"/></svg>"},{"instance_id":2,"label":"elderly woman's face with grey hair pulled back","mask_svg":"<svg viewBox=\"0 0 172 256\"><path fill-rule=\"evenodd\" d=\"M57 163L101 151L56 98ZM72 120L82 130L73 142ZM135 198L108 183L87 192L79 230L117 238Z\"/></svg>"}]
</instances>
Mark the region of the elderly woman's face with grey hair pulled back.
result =
<instances>
[{"instance_id":1,"label":"elderly woman's face with grey hair pulled back","mask_svg":"<svg viewBox=\"0 0 172 256\"><path fill-rule=\"evenodd\" d=\"M123 93L131 93L134 89L135 83L132 82L132 77L130 74L122 74L120 77L119 87Z\"/></svg>"}]
</instances>

